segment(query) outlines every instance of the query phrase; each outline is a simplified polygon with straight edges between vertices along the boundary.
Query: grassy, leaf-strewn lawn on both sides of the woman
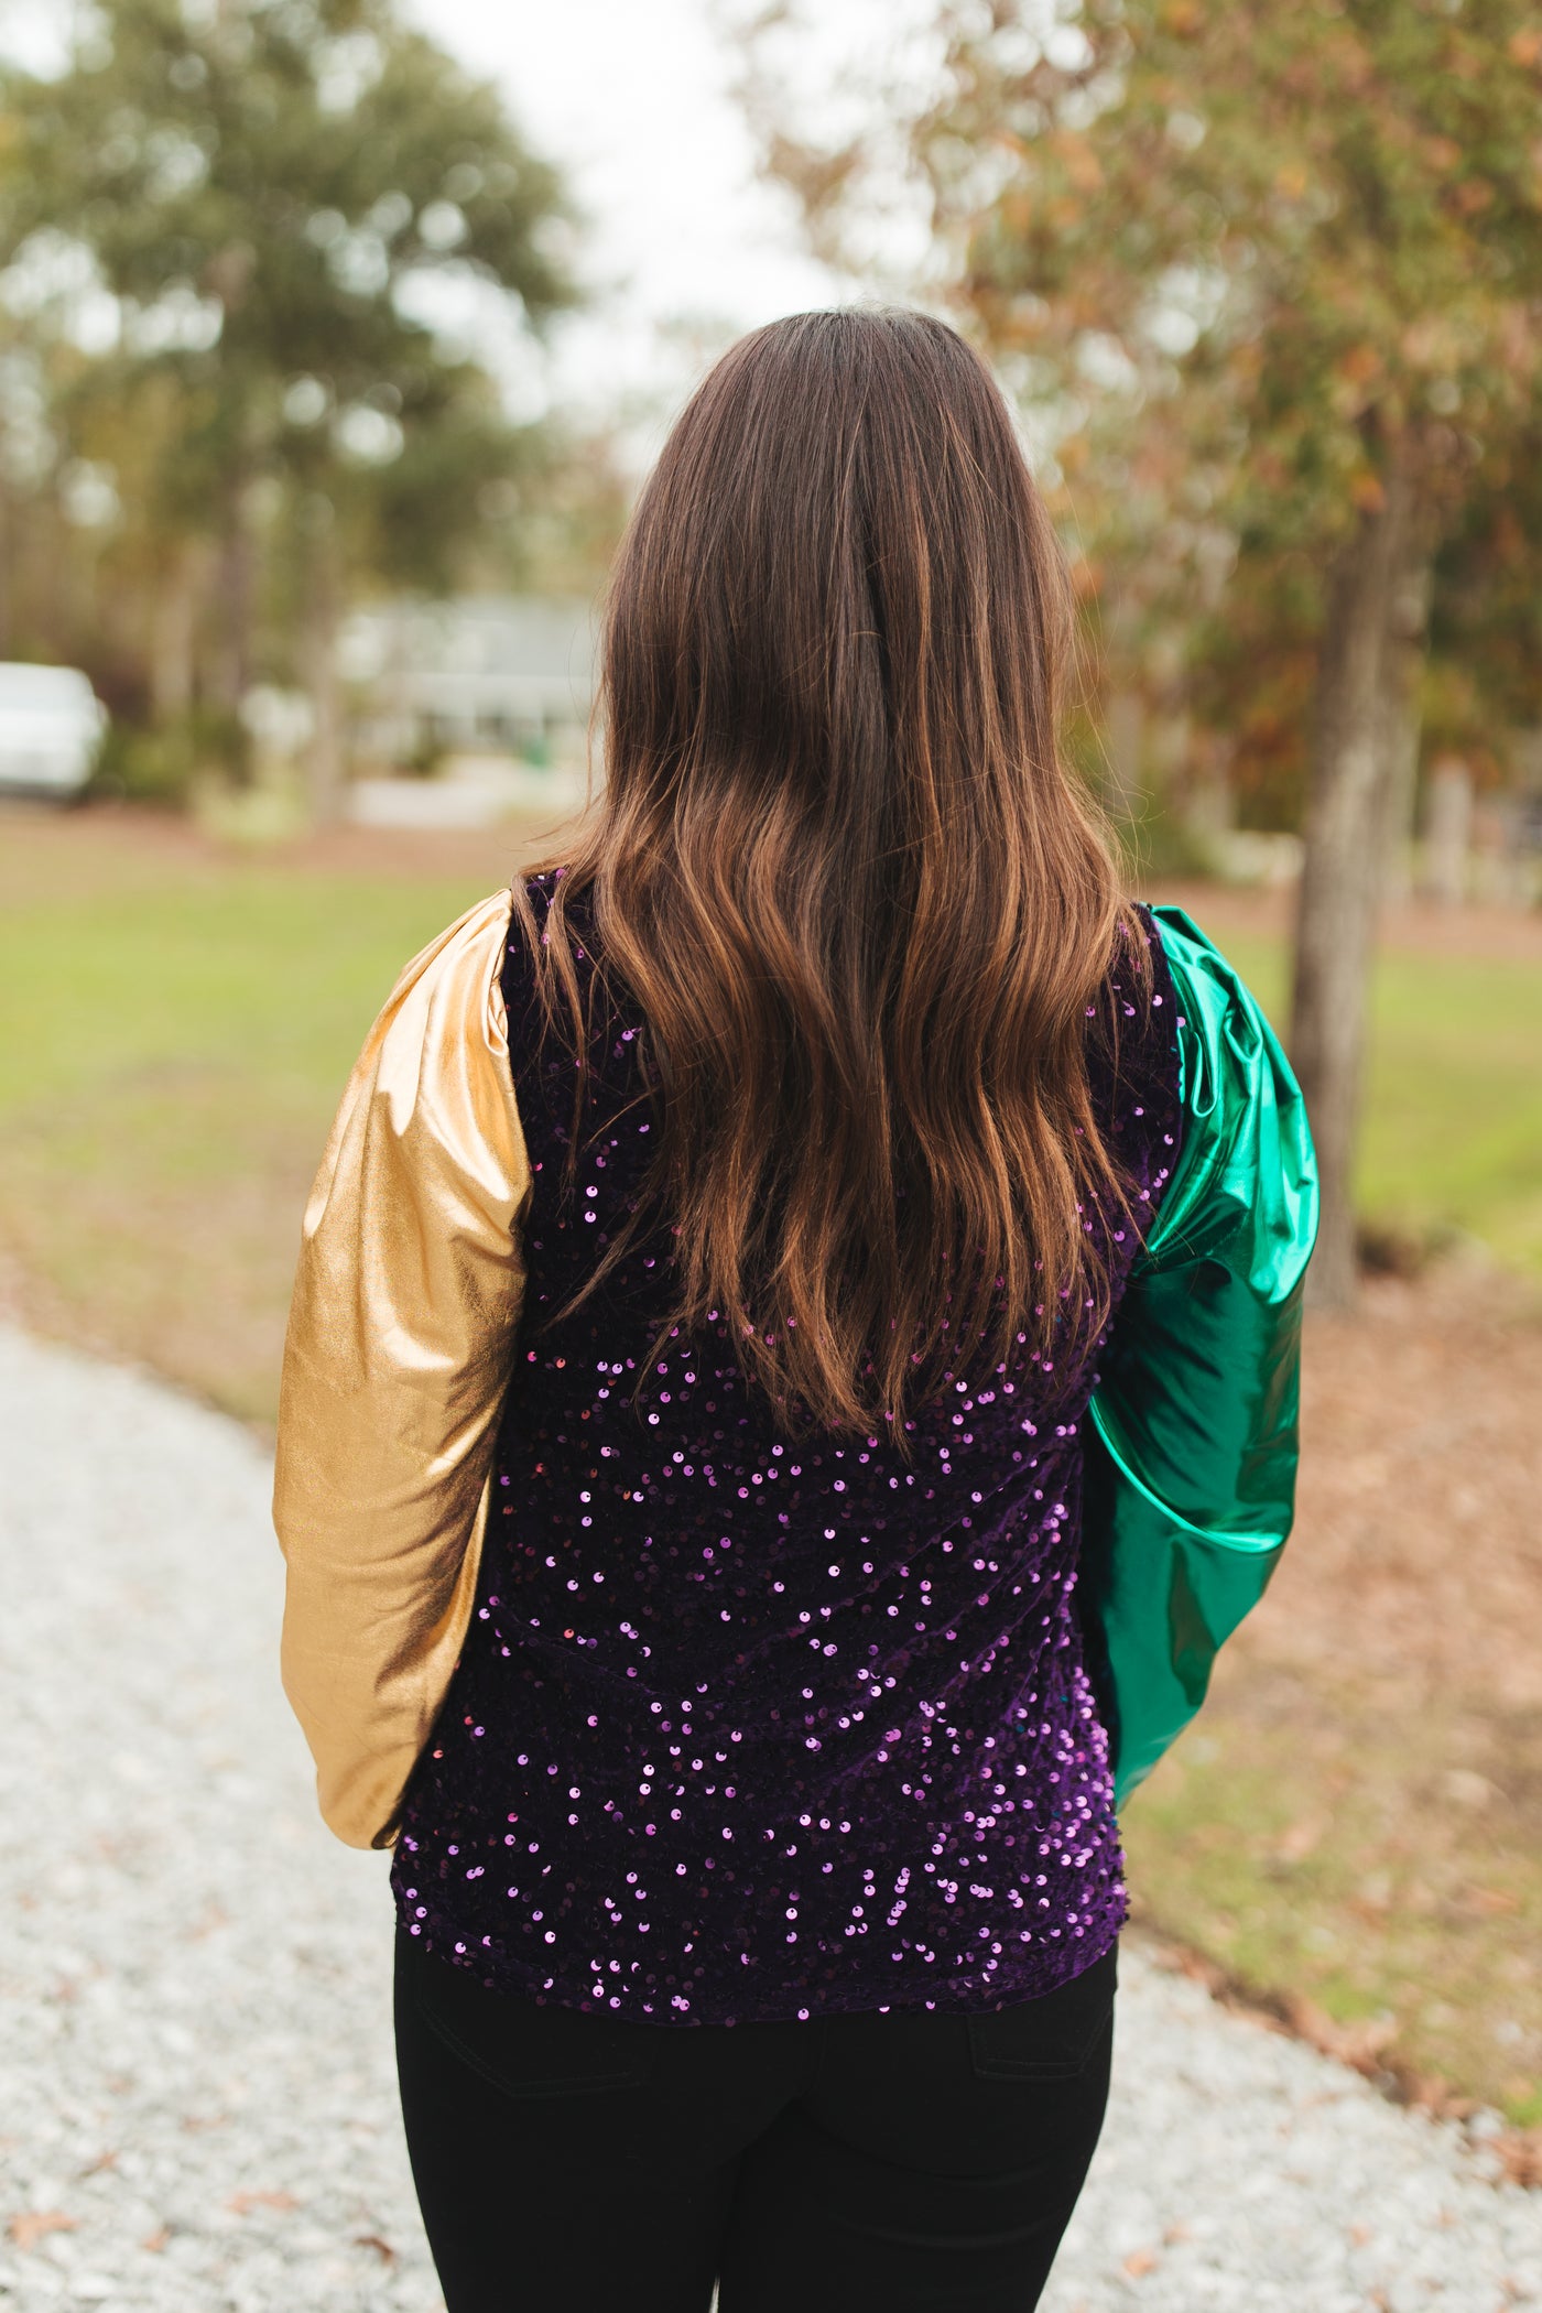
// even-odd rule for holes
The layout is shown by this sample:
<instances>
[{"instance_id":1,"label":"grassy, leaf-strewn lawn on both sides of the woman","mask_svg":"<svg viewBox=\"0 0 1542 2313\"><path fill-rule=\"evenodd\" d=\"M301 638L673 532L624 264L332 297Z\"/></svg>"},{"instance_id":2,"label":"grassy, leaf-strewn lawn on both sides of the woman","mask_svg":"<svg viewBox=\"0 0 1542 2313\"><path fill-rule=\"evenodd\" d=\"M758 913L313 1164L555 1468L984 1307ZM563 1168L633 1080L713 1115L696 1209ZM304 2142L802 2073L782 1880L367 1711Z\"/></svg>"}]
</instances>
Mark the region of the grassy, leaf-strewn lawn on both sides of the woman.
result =
<instances>
[{"instance_id":1,"label":"grassy, leaf-strewn lawn on both sides of the woman","mask_svg":"<svg viewBox=\"0 0 1542 2313\"><path fill-rule=\"evenodd\" d=\"M349 1062L527 849L0 816L0 1307L268 1422ZM1278 1018L1278 902L1184 897ZM1542 925L1392 925L1359 1200L1503 1268L1313 1325L1299 1529L1128 1809L1135 1913L1542 2123Z\"/></svg>"}]
</instances>

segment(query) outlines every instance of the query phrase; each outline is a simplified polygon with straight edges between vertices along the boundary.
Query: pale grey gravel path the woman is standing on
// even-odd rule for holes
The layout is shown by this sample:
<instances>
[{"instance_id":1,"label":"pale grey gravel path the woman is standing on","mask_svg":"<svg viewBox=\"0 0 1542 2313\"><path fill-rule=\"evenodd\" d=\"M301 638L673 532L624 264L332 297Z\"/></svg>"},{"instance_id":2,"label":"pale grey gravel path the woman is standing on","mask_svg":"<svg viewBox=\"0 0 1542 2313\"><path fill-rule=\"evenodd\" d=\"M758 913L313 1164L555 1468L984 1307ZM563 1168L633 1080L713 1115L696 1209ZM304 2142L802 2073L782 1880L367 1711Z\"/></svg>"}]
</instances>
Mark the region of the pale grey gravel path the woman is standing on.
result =
<instances>
[{"instance_id":1,"label":"pale grey gravel path the woman is standing on","mask_svg":"<svg viewBox=\"0 0 1542 2313\"><path fill-rule=\"evenodd\" d=\"M0 2306L435 2313L386 1860L314 1818L264 1455L0 1332ZM1126 1952L1045 2313L1514 2304L1542 2304L1542 2195Z\"/></svg>"}]
</instances>

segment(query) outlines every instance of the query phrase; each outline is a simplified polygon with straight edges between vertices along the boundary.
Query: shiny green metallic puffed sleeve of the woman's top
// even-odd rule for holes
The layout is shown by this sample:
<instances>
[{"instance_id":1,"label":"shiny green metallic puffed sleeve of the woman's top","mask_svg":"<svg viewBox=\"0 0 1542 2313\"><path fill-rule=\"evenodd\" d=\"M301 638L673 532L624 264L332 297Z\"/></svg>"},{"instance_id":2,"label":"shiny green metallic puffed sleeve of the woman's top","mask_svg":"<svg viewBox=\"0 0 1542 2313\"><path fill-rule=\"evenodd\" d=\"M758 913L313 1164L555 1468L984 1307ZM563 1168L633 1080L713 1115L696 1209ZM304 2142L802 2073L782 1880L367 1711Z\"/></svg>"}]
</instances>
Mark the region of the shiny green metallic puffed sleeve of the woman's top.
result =
<instances>
[{"instance_id":1,"label":"shiny green metallic puffed sleeve of the woman's top","mask_svg":"<svg viewBox=\"0 0 1542 2313\"><path fill-rule=\"evenodd\" d=\"M1318 1228L1306 1106L1269 1022L1181 909L1154 916L1179 1002L1184 1140L1087 1441L1084 1580L1119 1804L1200 1709L1290 1534Z\"/></svg>"}]
</instances>

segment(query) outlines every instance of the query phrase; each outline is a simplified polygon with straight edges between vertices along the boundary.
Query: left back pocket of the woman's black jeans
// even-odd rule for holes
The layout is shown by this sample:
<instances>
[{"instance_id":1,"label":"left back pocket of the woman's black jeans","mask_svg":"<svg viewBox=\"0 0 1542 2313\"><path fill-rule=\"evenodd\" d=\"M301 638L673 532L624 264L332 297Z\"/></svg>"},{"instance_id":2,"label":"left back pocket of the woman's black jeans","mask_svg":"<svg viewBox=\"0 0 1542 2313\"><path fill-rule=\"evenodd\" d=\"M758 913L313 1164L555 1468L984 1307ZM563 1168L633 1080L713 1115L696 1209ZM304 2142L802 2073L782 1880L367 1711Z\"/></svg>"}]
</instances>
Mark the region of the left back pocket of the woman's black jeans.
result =
<instances>
[{"instance_id":1,"label":"left back pocket of the woman's black jeans","mask_svg":"<svg viewBox=\"0 0 1542 2313\"><path fill-rule=\"evenodd\" d=\"M407 1968L428 2029L504 2096L599 2096L652 2077L659 2026L506 1998L430 1954L412 1954Z\"/></svg>"}]
</instances>

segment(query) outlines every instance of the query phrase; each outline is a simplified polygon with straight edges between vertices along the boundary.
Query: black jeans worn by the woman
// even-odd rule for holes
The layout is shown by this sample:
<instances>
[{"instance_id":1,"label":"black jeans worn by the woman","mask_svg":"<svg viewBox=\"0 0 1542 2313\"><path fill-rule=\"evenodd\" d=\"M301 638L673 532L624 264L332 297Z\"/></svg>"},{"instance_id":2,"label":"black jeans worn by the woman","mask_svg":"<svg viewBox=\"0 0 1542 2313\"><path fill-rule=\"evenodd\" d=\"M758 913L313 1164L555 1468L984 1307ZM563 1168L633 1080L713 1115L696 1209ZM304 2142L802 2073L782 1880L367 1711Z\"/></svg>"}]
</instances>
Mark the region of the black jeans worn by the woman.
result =
<instances>
[{"instance_id":1,"label":"black jeans worn by the woman","mask_svg":"<svg viewBox=\"0 0 1542 2313\"><path fill-rule=\"evenodd\" d=\"M398 1934L448 2313L1029 2313L1087 2177L1117 1948L994 2015L622 2024Z\"/></svg>"}]
</instances>

